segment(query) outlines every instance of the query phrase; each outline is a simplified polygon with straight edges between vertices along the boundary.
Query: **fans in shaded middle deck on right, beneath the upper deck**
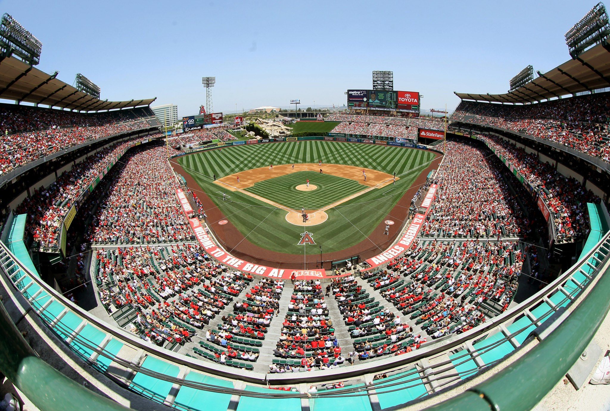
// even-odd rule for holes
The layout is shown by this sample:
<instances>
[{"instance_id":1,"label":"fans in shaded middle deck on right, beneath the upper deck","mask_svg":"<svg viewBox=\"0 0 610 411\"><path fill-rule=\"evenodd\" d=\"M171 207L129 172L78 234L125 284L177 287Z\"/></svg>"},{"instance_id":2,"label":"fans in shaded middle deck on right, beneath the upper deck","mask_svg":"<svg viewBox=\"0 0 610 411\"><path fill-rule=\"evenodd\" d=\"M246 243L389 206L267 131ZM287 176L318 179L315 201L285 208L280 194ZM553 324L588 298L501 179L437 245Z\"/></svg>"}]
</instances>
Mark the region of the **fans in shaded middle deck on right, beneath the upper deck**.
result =
<instances>
[{"instance_id":1,"label":"fans in shaded middle deck on right, beneath the upper deck","mask_svg":"<svg viewBox=\"0 0 610 411\"><path fill-rule=\"evenodd\" d=\"M556 240L571 241L587 234L587 202L599 203L598 196L574 177L566 177L552 164L540 161L535 152L526 152L500 137L479 135L478 138L503 155L539 193L553 214Z\"/></svg>"}]
</instances>

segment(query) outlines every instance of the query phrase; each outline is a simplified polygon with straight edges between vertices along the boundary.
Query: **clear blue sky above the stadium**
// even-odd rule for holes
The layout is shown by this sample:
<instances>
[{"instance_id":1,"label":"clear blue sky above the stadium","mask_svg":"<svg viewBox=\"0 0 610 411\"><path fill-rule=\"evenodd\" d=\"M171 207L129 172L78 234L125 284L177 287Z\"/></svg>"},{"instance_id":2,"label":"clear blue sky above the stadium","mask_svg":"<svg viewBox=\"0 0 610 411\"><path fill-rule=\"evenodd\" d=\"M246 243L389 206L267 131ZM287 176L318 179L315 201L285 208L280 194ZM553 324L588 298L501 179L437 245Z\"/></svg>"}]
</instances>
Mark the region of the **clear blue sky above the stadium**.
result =
<instances>
[{"instance_id":1,"label":"clear blue sky above the stadium","mask_svg":"<svg viewBox=\"0 0 610 411\"><path fill-rule=\"evenodd\" d=\"M40 70L82 73L113 101L157 97L191 115L216 76L215 111L343 105L392 70L422 109L453 109L453 91L502 93L526 65L570 58L565 32L591 1L25 1L0 12L43 43Z\"/></svg>"}]
</instances>

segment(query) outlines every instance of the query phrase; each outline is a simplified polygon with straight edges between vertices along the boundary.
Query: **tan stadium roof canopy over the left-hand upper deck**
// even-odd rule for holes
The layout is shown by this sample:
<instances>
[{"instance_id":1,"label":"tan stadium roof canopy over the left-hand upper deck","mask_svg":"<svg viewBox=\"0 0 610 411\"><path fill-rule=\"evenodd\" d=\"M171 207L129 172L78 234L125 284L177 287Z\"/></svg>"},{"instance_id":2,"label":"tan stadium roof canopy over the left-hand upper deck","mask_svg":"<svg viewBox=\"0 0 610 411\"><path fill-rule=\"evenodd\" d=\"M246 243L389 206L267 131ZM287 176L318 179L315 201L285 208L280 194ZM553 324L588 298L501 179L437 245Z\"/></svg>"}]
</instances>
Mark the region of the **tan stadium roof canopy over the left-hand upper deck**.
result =
<instances>
[{"instance_id":1,"label":"tan stadium roof canopy over the left-hand upper deck","mask_svg":"<svg viewBox=\"0 0 610 411\"><path fill-rule=\"evenodd\" d=\"M0 99L45 104L77 111L126 109L150 105L157 98L131 101L100 100L15 57L0 56Z\"/></svg>"}]
</instances>

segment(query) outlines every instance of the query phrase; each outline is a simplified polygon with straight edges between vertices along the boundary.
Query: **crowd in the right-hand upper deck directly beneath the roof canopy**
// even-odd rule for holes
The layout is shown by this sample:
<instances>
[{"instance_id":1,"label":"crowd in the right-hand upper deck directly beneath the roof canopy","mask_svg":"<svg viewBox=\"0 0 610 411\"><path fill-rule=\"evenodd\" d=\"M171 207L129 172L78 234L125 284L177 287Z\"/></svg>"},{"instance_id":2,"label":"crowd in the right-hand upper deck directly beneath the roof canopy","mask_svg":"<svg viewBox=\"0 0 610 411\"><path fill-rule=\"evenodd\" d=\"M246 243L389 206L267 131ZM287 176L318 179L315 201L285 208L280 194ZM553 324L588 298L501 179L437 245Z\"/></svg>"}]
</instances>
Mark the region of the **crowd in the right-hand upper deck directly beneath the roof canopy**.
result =
<instances>
[{"instance_id":1,"label":"crowd in the right-hand upper deck directly beneath the roof canopy","mask_svg":"<svg viewBox=\"0 0 610 411\"><path fill-rule=\"evenodd\" d=\"M451 120L544 138L610 162L609 113L603 93L526 105L462 101Z\"/></svg>"}]
</instances>

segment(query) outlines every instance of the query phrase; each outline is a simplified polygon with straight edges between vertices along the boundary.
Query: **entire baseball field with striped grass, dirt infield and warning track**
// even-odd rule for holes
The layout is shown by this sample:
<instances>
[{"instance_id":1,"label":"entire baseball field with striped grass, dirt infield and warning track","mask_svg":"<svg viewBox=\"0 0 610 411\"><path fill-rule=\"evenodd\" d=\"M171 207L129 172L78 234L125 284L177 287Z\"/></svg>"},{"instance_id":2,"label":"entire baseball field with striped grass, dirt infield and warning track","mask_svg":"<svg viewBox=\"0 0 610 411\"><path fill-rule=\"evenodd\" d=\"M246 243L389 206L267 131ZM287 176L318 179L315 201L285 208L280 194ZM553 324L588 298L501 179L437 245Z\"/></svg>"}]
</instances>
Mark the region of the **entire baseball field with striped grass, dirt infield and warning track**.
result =
<instances>
[{"instance_id":1,"label":"entire baseball field with striped grass, dirt infield and warning track","mask_svg":"<svg viewBox=\"0 0 610 411\"><path fill-rule=\"evenodd\" d=\"M281 253L303 262L319 256L320 246L336 257L356 245L378 251L389 244L406 219L414 181L436 157L420 149L307 140L213 149L171 161L204 202L207 222L229 252L247 245L271 261ZM394 224L380 237L388 218ZM299 245L304 232L315 245Z\"/></svg>"}]
</instances>

